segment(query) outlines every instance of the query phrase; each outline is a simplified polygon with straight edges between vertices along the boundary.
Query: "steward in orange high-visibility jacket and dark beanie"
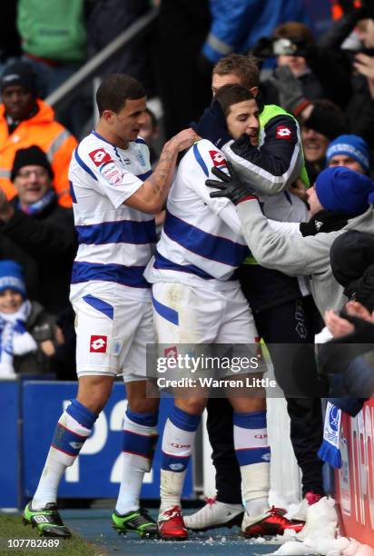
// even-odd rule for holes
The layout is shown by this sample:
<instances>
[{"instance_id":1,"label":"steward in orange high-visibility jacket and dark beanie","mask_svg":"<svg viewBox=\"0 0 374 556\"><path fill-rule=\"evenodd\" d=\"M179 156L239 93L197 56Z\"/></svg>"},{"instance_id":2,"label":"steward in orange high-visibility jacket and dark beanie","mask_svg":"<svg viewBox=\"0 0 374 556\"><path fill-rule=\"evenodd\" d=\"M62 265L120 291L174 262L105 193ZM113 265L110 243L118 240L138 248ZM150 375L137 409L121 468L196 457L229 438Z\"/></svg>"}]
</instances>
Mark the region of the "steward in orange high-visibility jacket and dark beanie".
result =
<instances>
[{"instance_id":1,"label":"steward in orange high-visibility jacket and dark beanie","mask_svg":"<svg viewBox=\"0 0 374 556\"><path fill-rule=\"evenodd\" d=\"M71 206L67 172L76 140L54 121L54 111L37 96L36 77L29 64L8 65L1 78L0 104L0 188L8 199L15 196L10 181L15 152L37 144L47 155L54 171L58 202Z\"/></svg>"}]
</instances>

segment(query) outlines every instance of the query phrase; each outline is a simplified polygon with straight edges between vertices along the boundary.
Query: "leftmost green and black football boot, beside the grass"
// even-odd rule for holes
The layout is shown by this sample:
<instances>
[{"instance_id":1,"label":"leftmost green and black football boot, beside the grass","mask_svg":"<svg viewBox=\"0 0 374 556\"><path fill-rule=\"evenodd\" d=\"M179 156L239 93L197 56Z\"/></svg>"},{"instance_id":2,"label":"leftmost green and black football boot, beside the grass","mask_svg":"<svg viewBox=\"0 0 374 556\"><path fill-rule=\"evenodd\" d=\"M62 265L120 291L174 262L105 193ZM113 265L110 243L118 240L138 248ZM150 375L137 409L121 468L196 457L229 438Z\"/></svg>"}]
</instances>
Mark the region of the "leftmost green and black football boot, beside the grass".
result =
<instances>
[{"instance_id":1,"label":"leftmost green and black football boot, beside the grass","mask_svg":"<svg viewBox=\"0 0 374 556\"><path fill-rule=\"evenodd\" d=\"M25 525L33 525L44 537L60 537L68 539L72 533L65 527L60 514L57 511L57 504L50 502L43 510L32 510L31 502L25 507L23 521Z\"/></svg>"}]
</instances>

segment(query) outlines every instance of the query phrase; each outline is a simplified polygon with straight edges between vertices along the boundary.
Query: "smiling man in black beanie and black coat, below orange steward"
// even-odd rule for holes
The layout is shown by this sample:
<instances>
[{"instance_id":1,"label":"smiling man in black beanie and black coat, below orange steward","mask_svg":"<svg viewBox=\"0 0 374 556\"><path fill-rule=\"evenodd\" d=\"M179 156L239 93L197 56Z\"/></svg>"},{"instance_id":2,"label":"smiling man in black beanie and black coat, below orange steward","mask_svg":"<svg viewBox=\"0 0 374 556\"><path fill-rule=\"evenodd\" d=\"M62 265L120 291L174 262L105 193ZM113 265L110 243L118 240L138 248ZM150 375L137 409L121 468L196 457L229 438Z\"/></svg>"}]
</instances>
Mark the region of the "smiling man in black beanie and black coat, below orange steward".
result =
<instances>
[{"instance_id":1,"label":"smiling man in black beanie and black coat, below orange steward","mask_svg":"<svg viewBox=\"0 0 374 556\"><path fill-rule=\"evenodd\" d=\"M57 204L53 177L38 146L15 153L11 179L18 195L9 202L0 191L0 258L21 263L31 298L57 314L69 303L76 239L73 211Z\"/></svg>"}]
</instances>

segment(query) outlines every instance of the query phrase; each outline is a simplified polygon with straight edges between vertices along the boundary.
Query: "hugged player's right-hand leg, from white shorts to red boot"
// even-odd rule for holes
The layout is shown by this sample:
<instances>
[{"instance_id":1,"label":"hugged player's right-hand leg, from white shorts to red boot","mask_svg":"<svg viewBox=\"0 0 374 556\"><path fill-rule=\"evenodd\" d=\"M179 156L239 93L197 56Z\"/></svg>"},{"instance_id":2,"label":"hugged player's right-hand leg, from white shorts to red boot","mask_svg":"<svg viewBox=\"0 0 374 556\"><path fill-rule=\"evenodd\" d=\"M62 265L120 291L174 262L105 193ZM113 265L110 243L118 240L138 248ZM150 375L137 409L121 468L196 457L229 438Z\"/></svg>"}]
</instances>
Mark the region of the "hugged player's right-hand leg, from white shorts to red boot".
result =
<instances>
[{"instance_id":1,"label":"hugged player's right-hand leg, from white shorts to red boot","mask_svg":"<svg viewBox=\"0 0 374 556\"><path fill-rule=\"evenodd\" d=\"M258 357L258 332L251 309L240 290L232 291L227 301L230 311L220 341L236 343L233 355L238 367L241 357L246 356L246 360L250 361L256 357L259 367L248 376L261 379L266 366ZM266 391L259 386L248 388L246 393L247 396L241 396L238 391L233 395L228 392L233 408L234 448L241 469L241 492L245 506L241 530L247 536L282 534L290 521L283 517L282 511L269 507L271 449L268 444Z\"/></svg>"}]
</instances>

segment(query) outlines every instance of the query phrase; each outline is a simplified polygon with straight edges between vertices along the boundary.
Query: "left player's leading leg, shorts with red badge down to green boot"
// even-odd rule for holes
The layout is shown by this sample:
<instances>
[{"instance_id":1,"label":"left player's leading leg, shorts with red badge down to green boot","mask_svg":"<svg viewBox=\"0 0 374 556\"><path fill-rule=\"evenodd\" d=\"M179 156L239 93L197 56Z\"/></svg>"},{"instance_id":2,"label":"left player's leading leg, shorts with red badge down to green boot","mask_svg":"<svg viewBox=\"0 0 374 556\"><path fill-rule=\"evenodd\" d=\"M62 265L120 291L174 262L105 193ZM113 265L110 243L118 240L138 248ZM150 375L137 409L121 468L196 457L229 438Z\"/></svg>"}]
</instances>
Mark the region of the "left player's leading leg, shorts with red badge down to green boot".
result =
<instances>
[{"instance_id":1,"label":"left player's leading leg, shorts with red badge down to green boot","mask_svg":"<svg viewBox=\"0 0 374 556\"><path fill-rule=\"evenodd\" d=\"M49 536L69 537L71 534L57 511L58 486L66 468L73 465L91 434L94 422L112 392L116 373L108 347L113 319L84 300L76 303L74 310L78 323L78 393L57 422L38 487L24 512L26 523L33 524L41 534Z\"/></svg>"}]
</instances>

